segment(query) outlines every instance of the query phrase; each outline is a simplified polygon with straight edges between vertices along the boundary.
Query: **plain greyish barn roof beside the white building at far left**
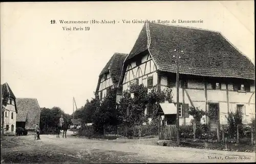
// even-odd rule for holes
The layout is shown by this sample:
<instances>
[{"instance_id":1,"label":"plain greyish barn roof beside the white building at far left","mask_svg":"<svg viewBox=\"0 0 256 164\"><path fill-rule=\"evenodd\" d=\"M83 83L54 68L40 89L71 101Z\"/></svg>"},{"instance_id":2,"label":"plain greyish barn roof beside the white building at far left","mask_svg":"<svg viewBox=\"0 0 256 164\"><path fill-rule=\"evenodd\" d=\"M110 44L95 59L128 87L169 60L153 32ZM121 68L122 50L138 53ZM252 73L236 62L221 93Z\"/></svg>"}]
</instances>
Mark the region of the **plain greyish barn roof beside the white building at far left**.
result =
<instances>
[{"instance_id":1,"label":"plain greyish barn roof beside the white building at far left","mask_svg":"<svg viewBox=\"0 0 256 164\"><path fill-rule=\"evenodd\" d=\"M40 122L40 107L36 98L16 98L17 122L26 122L26 129L34 129Z\"/></svg>"}]
</instances>

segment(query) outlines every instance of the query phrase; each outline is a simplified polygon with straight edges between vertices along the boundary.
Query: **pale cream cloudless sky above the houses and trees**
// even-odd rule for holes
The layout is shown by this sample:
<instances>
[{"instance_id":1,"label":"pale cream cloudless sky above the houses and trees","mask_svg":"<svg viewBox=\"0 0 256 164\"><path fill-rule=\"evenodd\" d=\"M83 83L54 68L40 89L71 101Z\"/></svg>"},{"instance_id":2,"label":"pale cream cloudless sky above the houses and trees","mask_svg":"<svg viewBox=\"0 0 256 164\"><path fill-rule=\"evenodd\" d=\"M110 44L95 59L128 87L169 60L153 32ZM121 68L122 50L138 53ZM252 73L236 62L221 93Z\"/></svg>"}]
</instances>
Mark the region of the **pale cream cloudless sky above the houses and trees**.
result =
<instances>
[{"instance_id":1,"label":"pale cream cloudless sky above the houses and trees","mask_svg":"<svg viewBox=\"0 0 256 164\"><path fill-rule=\"evenodd\" d=\"M37 98L40 107L59 106L68 114L73 97L78 108L94 97L113 54L131 51L143 23L124 19L201 19L169 24L220 31L254 64L253 1L1 3L0 12L1 84L7 82L18 98ZM92 19L116 23L59 22ZM63 30L73 26L90 30Z\"/></svg>"}]
</instances>

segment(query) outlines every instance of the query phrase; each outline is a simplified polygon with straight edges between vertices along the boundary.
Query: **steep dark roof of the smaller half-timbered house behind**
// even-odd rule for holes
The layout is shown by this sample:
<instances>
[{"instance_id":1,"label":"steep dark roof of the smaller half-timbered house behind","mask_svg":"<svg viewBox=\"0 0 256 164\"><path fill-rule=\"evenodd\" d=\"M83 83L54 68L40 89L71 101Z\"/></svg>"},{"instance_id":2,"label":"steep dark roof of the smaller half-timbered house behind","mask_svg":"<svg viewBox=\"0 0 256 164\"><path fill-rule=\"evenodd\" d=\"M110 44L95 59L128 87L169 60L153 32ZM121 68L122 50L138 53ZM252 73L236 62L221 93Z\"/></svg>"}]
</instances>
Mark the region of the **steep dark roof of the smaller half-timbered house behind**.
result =
<instances>
[{"instance_id":1,"label":"steep dark roof of the smaller half-timbered house behind","mask_svg":"<svg viewBox=\"0 0 256 164\"><path fill-rule=\"evenodd\" d=\"M126 53L114 53L114 55L111 57L109 62L106 63L105 67L102 69L102 71L99 74L99 80L98 80L98 85L97 85L96 90L99 89L101 76L108 72L111 75L111 79L112 79L114 87L118 86L123 62L124 62L125 58L127 57L127 55L128 54L126 54Z\"/></svg>"}]
</instances>

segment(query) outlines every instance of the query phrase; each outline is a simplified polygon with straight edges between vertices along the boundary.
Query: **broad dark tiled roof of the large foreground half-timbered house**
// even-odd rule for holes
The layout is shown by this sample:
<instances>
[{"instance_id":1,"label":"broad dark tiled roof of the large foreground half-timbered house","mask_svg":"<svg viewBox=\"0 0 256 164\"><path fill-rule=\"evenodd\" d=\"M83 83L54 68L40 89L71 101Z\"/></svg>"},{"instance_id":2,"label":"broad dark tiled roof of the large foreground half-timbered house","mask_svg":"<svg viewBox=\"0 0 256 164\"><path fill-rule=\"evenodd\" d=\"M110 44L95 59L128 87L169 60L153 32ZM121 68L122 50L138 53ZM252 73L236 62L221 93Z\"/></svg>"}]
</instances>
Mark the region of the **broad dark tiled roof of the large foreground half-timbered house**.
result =
<instances>
[{"instance_id":1,"label":"broad dark tiled roof of the large foreground half-timbered house","mask_svg":"<svg viewBox=\"0 0 256 164\"><path fill-rule=\"evenodd\" d=\"M148 23L144 24L126 61L146 49L160 71L176 72L173 56L179 51L181 74L255 78L252 62L220 32Z\"/></svg>"}]
</instances>

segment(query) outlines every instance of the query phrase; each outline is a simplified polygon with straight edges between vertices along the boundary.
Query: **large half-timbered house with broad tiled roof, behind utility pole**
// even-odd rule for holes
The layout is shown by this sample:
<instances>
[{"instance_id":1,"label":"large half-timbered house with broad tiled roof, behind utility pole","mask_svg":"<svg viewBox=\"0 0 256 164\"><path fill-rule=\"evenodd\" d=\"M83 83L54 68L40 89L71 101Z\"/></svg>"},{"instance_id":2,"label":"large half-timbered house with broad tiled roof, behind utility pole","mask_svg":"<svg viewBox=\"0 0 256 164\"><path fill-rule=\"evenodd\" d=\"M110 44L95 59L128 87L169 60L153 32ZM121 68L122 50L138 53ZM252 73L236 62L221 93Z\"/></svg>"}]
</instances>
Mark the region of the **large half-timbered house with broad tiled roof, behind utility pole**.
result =
<instances>
[{"instance_id":1,"label":"large half-timbered house with broad tiled roof, behind utility pole","mask_svg":"<svg viewBox=\"0 0 256 164\"><path fill-rule=\"evenodd\" d=\"M119 86L134 84L158 90L173 89L176 96L179 57L179 122L189 124L189 106L216 110L225 124L228 112L239 108L245 122L255 117L254 65L220 32L176 25L145 23L126 57ZM162 105L172 106L172 105ZM174 110L164 109L163 111ZM146 113L150 110L146 110ZM205 117L206 123L213 119Z\"/></svg>"}]
</instances>

